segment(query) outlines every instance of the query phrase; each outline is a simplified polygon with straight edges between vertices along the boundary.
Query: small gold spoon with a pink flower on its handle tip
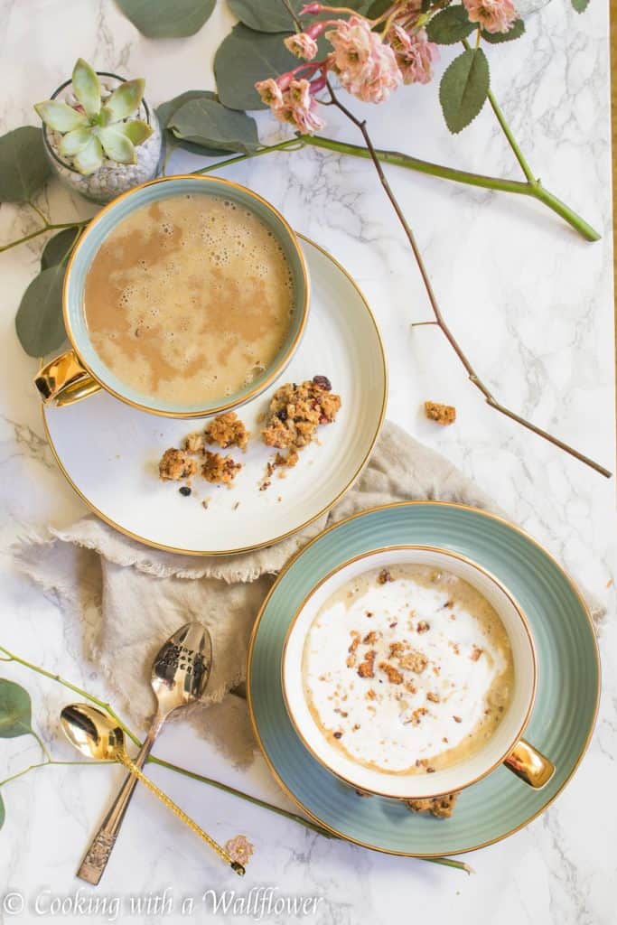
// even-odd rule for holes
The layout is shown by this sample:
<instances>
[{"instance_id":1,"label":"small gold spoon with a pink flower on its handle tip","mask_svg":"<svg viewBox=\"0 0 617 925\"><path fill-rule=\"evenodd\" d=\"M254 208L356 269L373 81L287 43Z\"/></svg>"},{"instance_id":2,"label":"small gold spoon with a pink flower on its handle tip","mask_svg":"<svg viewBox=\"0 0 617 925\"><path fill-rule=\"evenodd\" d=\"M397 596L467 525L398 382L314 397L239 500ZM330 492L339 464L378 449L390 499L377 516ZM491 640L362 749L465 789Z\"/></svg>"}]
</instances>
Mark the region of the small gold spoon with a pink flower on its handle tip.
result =
<instances>
[{"instance_id":1,"label":"small gold spoon with a pink flower on its handle tip","mask_svg":"<svg viewBox=\"0 0 617 925\"><path fill-rule=\"evenodd\" d=\"M96 707L91 707L87 703L73 703L65 707L61 714L60 720L62 727L67 735L68 741L74 745L82 755L93 758L98 761L120 761L125 768L128 768L131 774L144 783L153 794L158 796L165 805L185 822L190 829L204 840L206 845L210 845L216 851L219 857L229 865L231 870L243 876L244 868L238 861L228 855L225 848L218 845L214 838L205 833L196 822L193 822L189 816L180 809L169 797L160 790L149 777L137 767L135 762L129 758L124 746L124 733L117 725L115 720Z\"/></svg>"}]
</instances>

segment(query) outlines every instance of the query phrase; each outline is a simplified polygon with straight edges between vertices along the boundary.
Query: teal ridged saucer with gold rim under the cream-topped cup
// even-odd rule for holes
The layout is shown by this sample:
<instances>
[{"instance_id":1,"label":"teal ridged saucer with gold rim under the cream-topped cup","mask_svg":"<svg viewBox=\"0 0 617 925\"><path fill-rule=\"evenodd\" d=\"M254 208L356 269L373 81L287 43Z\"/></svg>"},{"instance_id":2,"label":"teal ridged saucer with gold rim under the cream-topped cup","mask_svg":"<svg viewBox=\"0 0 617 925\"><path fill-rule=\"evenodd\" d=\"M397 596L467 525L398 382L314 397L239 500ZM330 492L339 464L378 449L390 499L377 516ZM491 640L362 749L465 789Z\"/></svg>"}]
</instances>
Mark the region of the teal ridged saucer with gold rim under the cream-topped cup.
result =
<instances>
[{"instance_id":1,"label":"teal ridged saucer with gold rim under the cream-topped cup","mask_svg":"<svg viewBox=\"0 0 617 925\"><path fill-rule=\"evenodd\" d=\"M557 768L543 790L532 790L500 767L463 791L451 819L418 816L394 800L357 796L315 761L295 734L280 685L283 642L295 611L337 565L371 549L406 543L463 553L495 574L523 608L538 660L536 703L525 737ZM412 501L335 524L290 561L257 617L247 687L265 759L278 783L309 816L341 838L378 851L453 855L516 832L570 780L598 711L598 647L573 582L530 536L475 508Z\"/></svg>"}]
</instances>

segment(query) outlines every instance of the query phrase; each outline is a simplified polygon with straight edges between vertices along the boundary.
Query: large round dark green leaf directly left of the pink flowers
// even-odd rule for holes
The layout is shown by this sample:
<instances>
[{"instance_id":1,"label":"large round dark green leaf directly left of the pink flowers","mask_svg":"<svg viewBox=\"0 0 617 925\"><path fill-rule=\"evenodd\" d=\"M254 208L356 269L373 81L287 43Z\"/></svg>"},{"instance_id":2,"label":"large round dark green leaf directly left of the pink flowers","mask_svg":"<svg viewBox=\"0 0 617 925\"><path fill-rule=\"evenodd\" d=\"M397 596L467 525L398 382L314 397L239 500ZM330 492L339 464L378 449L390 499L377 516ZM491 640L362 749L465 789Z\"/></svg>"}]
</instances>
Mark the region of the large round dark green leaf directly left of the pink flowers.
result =
<instances>
[{"instance_id":1,"label":"large round dark green leaf directly left of the pink flowers","mask_svg":"<svg viewBox=\"0 0 617 925\"><path fill-rule=\"evenodd\" d=\"M256 81L276 78L297 64L280 32L255 32L239 23L216 51L218 97L229 109L267 109L255 90Z\"/></svg>"}]
</instances>

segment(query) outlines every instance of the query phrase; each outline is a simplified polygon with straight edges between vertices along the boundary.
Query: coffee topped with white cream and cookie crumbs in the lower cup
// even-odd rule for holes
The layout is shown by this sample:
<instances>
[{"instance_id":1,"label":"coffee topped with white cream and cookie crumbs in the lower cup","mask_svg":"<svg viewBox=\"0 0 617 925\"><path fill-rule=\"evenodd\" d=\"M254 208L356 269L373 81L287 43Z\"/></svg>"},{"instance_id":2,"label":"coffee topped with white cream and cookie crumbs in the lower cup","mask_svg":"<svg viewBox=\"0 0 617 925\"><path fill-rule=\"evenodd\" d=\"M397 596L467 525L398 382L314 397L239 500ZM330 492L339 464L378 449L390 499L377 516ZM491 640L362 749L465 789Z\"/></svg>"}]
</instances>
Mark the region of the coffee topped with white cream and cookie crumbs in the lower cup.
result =
<instances>
[{"instance_id":1,"label":"coffee topped with white cream and cookie crumbs in the lower cup","mask_svg":"<svg viewBox=\"0 0 617 925\"><path fill-rule=\"evenodd\" d=\"M303 683L328 740L390 773L448 767L494 733L513 684L500 617L472 586L427 566L364 573L327 600ZM373 654L374 653L374 654Z\"/></svg>"}]
</instances>

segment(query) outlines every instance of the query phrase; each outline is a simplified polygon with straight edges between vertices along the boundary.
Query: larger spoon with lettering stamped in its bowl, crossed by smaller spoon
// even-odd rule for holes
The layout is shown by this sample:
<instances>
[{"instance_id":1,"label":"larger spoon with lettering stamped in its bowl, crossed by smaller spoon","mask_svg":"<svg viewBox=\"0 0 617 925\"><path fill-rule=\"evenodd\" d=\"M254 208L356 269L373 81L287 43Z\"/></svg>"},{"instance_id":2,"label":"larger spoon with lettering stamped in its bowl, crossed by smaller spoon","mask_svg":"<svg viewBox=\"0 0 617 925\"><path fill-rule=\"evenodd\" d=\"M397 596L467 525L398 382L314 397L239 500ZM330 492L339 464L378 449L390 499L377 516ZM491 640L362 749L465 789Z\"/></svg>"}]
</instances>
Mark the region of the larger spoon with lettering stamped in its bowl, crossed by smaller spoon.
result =
<instances>
[{"instance_id":1,"label":"larger spoon with lettering stamped in its bowl, crossed by smaller spoon","mask_svg":"<svg viewBox=\"0 0 617 925\"><path fill-rule=\"evenodd\" d=\"M212 640L202 623L185 623L167 639L152 666L150 683L156 697L156 712L134 759L139 769L145 764L154 740L169 714L203 697L211 670ZM80 880L94 886L101 880L136 785L137 777L127 774L81 861L80 870L77 871Z\"/></svg>"}]
</instances>

